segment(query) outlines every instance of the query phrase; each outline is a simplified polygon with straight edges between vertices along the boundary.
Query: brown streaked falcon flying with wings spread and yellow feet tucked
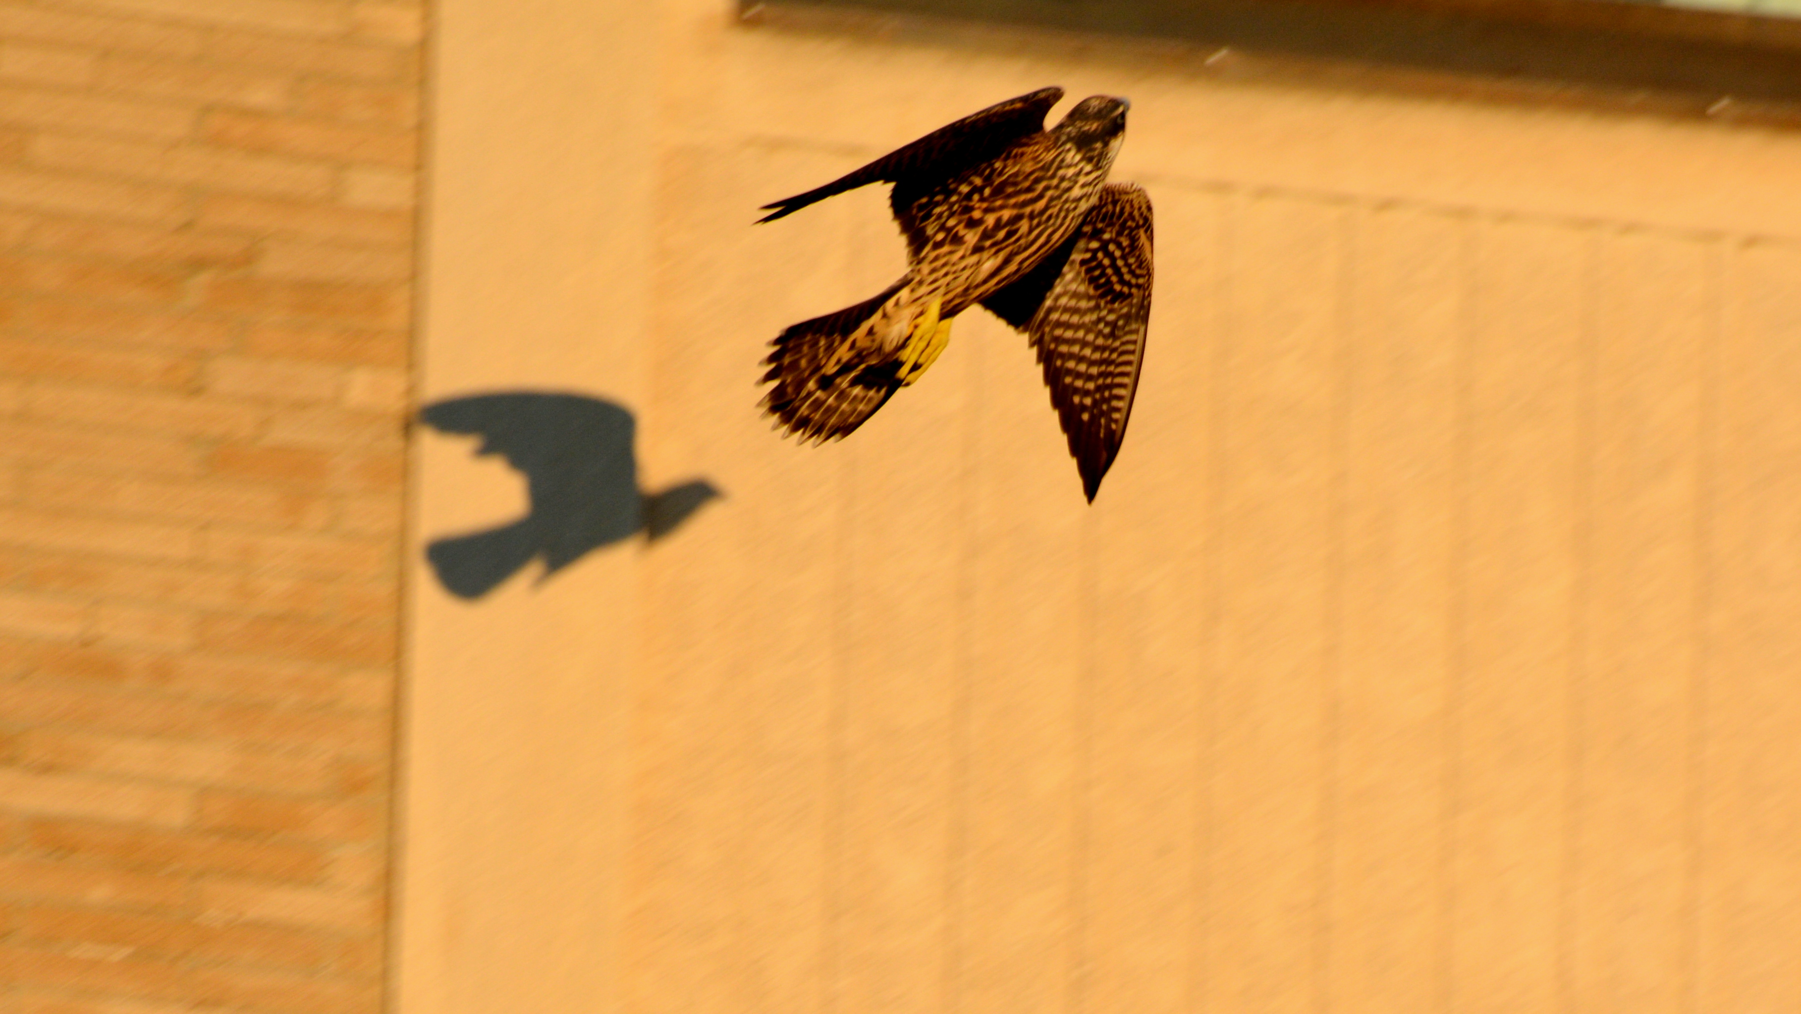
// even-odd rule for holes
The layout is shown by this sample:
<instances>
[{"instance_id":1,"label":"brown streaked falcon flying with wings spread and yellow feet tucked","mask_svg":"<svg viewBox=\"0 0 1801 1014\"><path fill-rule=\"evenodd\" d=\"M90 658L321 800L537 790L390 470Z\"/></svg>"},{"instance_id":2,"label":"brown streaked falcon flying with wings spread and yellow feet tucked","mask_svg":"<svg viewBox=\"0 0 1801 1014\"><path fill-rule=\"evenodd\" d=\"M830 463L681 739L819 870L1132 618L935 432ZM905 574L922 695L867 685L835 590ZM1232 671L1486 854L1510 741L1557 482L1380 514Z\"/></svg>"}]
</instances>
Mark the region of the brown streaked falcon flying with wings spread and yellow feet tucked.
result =
<instances>
[{"instance_id":1,"label":"brown streaked falcon flying with wings spread and yellow feet tucked","mask_svg":"<svg viewBox=\"0 0 1801 1014\"><path fill-rule=\"evenodd\" d=\"M967 115L832 180L764 205L773 222L893 184L908 270L879 295L773 342L764 409L801 441L837 439L919 380L973 304L1027 333L1093 502L1131 416L1151 313L1151 198L1108 184L1131 103L1082 99L1045 130L1063 88Z\"/></svg>"}]
</instances>

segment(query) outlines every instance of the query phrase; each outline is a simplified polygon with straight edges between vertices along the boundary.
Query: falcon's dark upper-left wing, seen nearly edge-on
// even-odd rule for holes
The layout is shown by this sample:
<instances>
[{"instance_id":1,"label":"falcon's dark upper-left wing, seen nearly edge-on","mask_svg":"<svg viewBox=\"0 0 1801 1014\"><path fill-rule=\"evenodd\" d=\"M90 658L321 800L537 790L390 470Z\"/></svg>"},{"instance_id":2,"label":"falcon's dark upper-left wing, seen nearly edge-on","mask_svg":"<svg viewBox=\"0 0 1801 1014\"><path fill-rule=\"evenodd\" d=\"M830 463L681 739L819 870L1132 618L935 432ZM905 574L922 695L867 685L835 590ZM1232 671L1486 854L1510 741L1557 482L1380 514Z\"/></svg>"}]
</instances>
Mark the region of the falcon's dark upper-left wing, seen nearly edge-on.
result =
<instances>
[{"instance_id":1,"label":"falcon's dark upper-left wing, seen nearly edge-on","mask_svg":"<svg viewBox=\"0 0 1801 1014\"><path fill-rule=\"evenodd\" d=\"M951 177L980 166L1005 151L1021 137L1045 130L1045 113L1063 99L1063 88L1039 88L1030 95L1007 99L980 113L971 113L953 124L920 137L919 140L897 148L888 155L854 169L852 173L814 187L803 195L765 204L764 211L774 209L758 222L774 222L783 214L792 214L809 204L828 196L854 191L868 184L895 184L890 204L895 216Z\"/></svg>"}]
</instances>

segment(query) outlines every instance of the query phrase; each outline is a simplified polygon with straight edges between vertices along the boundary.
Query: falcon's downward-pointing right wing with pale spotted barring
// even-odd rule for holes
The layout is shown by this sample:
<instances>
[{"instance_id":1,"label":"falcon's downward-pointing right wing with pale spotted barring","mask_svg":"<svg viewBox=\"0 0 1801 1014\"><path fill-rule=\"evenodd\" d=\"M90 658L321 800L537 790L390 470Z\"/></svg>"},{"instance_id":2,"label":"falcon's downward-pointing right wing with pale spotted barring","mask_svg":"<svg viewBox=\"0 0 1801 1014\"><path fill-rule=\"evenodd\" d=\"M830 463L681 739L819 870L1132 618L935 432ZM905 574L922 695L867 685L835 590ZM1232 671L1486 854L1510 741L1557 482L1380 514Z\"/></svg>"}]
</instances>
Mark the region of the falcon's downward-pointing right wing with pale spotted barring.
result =
<instances>
[{"instance_id":1,"label":"falcon's downward-pointing right wing with pale spotted barring","mask_svg":"<svg viewBox=\"0 0 1801 1014\"><path fill-rule=\"evenodd\" d=\"M1093 502L1138 393L1151 317L1151 198L1133 184L1108 184L1070 243L982 304L1025 330L1037 349Z\"/></svg>"}]
</instances>

